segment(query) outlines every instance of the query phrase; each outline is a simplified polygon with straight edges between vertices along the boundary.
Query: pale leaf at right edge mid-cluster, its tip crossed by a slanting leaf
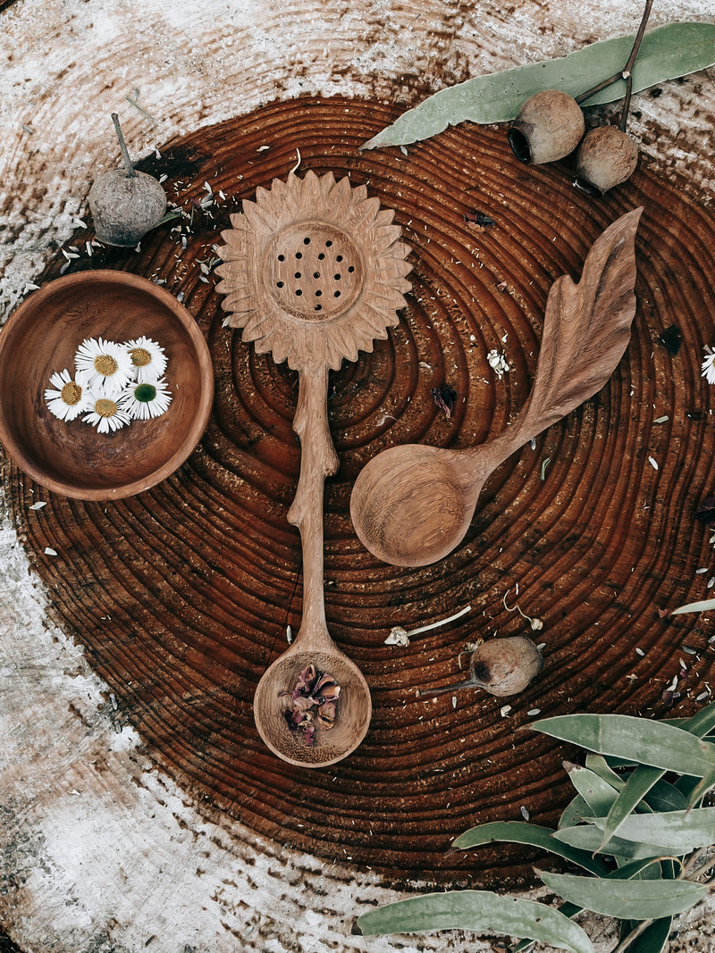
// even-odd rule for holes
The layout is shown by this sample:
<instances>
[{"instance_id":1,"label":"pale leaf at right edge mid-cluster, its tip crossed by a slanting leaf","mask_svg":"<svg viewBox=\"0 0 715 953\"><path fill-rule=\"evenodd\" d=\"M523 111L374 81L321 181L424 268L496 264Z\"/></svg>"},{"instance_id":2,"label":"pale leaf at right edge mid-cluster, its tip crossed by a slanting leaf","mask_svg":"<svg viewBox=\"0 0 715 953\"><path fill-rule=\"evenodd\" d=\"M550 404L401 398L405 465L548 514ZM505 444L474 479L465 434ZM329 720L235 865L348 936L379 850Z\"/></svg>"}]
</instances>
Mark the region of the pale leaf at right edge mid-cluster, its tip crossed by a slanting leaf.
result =
<instances>
[{"instance_id":1,"label":"pale leaf at right edge mid-cluster, its tip crossed by a slanting leaf","mask_svg":"<svg viewBox=\"0 0 715 953\"><path fill-rule=\"evenodd\" d=\"M605 818L589 821L603 830ZM619 837L637 844L659 843L664 854L681 856L715 843L715 807L659 814L631 814L619 827Z\"/></svg>"}]
</instances>

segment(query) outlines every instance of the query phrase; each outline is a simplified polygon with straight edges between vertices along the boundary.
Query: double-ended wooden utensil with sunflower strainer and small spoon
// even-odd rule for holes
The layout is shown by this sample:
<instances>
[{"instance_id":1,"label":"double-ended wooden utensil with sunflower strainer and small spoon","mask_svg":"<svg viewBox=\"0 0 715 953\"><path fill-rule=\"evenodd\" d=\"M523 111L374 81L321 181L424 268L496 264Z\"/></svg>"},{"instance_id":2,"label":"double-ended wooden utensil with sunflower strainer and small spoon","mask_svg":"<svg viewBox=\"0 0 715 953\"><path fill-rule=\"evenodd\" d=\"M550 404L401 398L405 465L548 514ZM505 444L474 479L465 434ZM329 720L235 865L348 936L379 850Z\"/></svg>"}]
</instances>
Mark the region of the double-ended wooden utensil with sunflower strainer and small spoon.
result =
<instances>
[{"instance_id":1,"label":"double-ended wooden utensil with sunflower strainer and small spoon","mask_svg":"<svg viewBox=\"0 0 715 953\"><path fill-rule=\"evenodd\" d=\"M323 491L337 471L327 415L328 371L372 351L398 323L410 284L409 249L399 241L394 212L379 208L367 189L347 178L308 172L270 190L232 215L222 233L224 264L218 291L232 312L224 324L243 329L260 354L288 361L298 372L294 430L300 437L300 476L288 520L297 526L303 554L303 615L290 649L258 682L254 718L279 758L305 767L332 764L353 751L370 723L372 703L358 666L340 652L328 632L323 593ZM300 672L309 664L340 686L335 725L317 729L308 744L285 719Z\"/></svg>"}]
</instances>

